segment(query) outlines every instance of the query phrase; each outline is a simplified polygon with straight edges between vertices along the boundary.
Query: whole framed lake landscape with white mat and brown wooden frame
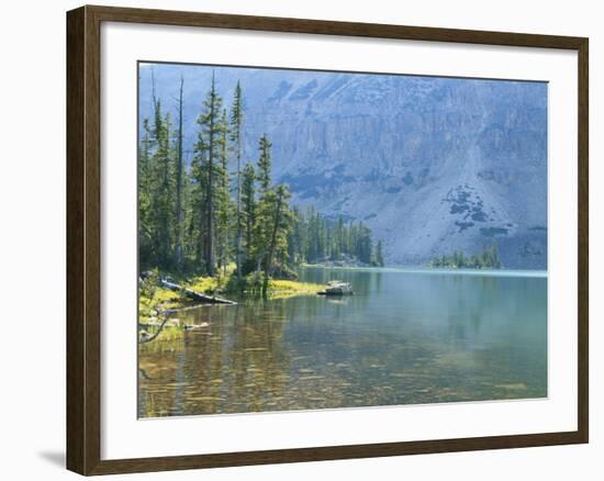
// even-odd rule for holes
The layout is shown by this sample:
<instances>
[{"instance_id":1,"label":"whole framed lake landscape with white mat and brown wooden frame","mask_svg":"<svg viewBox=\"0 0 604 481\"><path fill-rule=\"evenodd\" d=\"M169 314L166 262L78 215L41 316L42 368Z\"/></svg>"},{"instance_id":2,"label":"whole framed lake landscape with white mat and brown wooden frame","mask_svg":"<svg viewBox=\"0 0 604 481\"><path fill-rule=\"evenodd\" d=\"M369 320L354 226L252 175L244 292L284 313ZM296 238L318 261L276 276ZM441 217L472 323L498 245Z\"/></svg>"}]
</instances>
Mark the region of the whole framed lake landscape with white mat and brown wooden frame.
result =
<instances>
[{"instance_id":1,"label":"whole framed lake landscape with white mat and brown wooden frame","mask_svg":"<svg viewBox=\"0 0 604 481\"><path fill-rule=\"evenodd\" d=\"M67 465L588 443L588 38L67 14Z\"/></svg>"}]
</instances>

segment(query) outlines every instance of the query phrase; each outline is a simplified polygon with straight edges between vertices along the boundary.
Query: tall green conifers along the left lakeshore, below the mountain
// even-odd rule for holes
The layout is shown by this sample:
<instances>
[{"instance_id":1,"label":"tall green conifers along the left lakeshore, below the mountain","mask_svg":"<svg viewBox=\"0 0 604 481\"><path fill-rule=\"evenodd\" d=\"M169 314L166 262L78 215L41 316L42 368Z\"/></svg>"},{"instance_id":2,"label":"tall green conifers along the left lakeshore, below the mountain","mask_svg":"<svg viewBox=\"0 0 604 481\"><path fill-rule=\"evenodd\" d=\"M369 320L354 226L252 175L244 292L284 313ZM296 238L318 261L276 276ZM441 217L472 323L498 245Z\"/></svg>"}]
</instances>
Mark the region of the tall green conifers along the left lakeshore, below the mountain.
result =
<instances>
[{"instance_id":1,"label":"tall green conifers along the left lakeshore, below the mountain","mask_svg":"<svg viewBox=\"0 0 604 481\"><path fill-rule=\"evenodd\" d=\"M153 75L153 72L152 72ZM286 183L272 179L272 144L265 134L255 153L244 153L245 102L237 82L230 104L212 75L199 99L197 139L190 161L183 150L183 90L176 119L156 97L143 120L138 145L138 246L141 271L217 276L235 265L238 280L251 272L291 277L301 264L354 261L383 266L382 243L373 245L361 222L299 209Z\"/></svg>"}]
</instances>

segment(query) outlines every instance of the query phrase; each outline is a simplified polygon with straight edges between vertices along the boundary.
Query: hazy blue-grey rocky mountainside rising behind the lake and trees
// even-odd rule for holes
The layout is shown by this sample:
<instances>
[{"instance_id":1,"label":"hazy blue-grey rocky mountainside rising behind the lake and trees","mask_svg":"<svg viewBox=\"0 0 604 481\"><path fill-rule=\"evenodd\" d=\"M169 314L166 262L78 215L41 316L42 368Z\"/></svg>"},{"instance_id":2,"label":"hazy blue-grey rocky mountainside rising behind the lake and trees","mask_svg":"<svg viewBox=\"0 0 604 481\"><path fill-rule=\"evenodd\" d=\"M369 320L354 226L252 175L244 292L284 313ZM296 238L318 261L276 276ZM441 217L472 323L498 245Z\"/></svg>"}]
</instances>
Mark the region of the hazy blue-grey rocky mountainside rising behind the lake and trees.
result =
<instances>
[{"instance_id":1,"label":"hazy blue-grey rocky mountainside rising behind the lake and trees","mask_svg":"<svg viewBox=\"0 0 604 481\"><path fill-rule=\"evenodd\" d=\"M506 268L547 268L547 86L537 82L215 68L246 99L245 156L273 143L294 201L363 221L390 265L496 242ZM187 144L211 68L155 66L164 104L182 74ZM141 69L142 118L150 68Z\"/></svg>"}]
</instances>

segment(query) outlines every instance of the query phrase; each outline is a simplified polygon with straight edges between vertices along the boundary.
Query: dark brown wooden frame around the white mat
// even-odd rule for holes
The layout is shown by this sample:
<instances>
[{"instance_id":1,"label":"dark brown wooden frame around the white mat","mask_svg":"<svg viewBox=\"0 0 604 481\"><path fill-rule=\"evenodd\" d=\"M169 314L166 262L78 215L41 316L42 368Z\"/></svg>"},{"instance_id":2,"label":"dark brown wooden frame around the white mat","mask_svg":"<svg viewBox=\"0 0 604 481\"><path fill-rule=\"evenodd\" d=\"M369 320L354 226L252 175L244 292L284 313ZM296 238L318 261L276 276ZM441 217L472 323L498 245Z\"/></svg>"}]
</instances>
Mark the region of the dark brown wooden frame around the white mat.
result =
<instances>
[{"instance_id":1,"label":"dark brown wooden frame around the white mat","mask_svg":"<svg viewBox=\"0 0 604 481\"><path fill-rule=\"evenodd\" d=\"M205 26L575 51L579 65L579 96L577 99L579 113L578 429L545 434L101 460L100 26L102 22ZM67 468L88 476L588 443L588 38L570 36L89 5L68 12Z\"/></svg>"}]
</instances>

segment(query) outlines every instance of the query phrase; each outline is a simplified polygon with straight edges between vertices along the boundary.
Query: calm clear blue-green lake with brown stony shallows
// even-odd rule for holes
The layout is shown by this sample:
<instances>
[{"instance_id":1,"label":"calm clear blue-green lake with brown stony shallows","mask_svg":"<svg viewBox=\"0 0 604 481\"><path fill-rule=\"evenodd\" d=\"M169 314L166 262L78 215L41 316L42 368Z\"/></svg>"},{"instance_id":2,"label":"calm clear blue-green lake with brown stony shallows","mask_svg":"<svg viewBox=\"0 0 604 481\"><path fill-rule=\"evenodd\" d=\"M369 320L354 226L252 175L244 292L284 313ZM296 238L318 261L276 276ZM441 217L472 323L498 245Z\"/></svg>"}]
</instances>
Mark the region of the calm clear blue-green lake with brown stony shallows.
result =
<instances>
[{"instance_id":1,"label":"calm clear blue-green lake with brown stony shallows","mask_svg":"<svg viewBox=\"0 0 604 481\"><path fill-rule=\"evenodd\" d=\"M309 267L355 295L204 305L139 345L138 415L547 396L545 272Z\"/></svg>"}]
</instances>

